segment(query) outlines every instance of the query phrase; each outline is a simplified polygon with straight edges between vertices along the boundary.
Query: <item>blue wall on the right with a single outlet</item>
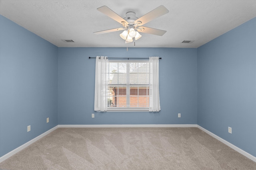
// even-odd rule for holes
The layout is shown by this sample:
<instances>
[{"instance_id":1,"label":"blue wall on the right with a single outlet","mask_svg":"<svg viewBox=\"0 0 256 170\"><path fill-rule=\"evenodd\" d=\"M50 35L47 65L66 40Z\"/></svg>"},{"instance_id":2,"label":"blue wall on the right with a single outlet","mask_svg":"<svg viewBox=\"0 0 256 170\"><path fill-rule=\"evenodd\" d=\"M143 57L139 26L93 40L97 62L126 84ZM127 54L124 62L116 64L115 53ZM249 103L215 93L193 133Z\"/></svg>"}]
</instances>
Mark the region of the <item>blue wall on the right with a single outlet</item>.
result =
<instances>
[{"instance_id":1,"label":"blue wall on the right with a single outlet","mask_svg":"<svg viewBox=\"0 0 256 170\"><path fill-rule=\"evenodd\" d=\"M198 48L198 125L256 156L256 18Z\"/></svg>"}]
</instances>

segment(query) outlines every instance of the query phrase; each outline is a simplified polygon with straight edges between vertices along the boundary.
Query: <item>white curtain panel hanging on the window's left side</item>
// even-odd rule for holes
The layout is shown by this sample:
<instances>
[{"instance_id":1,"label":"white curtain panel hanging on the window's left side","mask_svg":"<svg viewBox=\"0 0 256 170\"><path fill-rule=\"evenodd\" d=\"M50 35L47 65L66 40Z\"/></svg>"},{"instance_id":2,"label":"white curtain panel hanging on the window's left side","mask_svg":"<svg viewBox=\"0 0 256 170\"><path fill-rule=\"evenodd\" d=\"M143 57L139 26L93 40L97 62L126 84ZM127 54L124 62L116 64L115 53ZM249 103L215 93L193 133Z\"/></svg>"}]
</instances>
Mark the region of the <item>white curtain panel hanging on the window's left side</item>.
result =
<instances>
[{"instance_id":1,"label":"white curtain panel hanging on the window's left side","mask_svg":"<svg viewBox=\"0 0 256 170\"><path fill-rule=\"evenodd\" d=\"M108 57L97 56L95 68L94 110L106 111L108 107Z\"/></svg>"}]
</instances>

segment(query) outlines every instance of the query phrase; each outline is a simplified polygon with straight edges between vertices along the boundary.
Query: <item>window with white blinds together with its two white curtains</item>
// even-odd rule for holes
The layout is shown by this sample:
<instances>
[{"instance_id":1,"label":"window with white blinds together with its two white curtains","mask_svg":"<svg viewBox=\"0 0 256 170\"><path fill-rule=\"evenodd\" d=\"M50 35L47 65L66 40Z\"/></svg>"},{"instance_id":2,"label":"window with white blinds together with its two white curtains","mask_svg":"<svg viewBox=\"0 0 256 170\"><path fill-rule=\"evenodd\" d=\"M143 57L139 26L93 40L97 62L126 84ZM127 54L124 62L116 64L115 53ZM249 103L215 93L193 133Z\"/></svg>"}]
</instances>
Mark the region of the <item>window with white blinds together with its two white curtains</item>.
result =
<instances>
[{"instance_id":1,"label":"window with white blinds together with its two white curtains","mask_svg":"<svg viewBox=\"0 0 256 170\"><path fill-rule=\"evenodd\" d=\"M108 61L96 57L95 111L160 111L158 57Z\"/></svg>"}]
</instances>

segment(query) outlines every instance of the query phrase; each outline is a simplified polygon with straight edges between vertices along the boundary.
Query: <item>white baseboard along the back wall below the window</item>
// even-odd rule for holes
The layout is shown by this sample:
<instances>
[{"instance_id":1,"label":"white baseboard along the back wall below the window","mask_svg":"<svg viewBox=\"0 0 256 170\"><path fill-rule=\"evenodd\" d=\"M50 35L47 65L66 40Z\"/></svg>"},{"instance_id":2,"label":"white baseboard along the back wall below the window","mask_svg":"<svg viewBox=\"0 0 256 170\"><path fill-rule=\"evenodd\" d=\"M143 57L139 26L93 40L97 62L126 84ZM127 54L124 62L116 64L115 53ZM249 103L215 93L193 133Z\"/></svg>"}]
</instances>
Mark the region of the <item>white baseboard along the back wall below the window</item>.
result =
<instances>
[{"instance_id":1,"label":"white baseboard along the back wall below the window","mask_svg":"<svg viewBox=\"0 0 256 170\"><path fill-rule=\"evenodd\" d=\"M58 125L58 127L197 127L196 124L184 125Z\"/></svg>"}]
</instances>

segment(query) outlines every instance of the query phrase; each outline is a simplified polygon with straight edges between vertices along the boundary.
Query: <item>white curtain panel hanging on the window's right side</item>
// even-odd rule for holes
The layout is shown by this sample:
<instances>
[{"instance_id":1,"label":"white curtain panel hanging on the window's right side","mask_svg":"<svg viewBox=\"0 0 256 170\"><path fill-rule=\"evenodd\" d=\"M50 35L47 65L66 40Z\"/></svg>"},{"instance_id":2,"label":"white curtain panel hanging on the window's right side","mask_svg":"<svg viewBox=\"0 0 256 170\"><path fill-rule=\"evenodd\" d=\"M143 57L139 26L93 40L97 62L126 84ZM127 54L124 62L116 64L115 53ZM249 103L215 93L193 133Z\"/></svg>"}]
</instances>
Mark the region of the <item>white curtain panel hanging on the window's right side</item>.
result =
<instances>
[{"instance_id":1,"label":"white curtain panel hanging on the window's right side","mask_svg":"<svg viewBox=\"0 0 256 170\"><path fill-rule=\"evenodd\" d=\"M149 57L149 111L160 111L159 57Z\"/></svg>"}]
</instances>

